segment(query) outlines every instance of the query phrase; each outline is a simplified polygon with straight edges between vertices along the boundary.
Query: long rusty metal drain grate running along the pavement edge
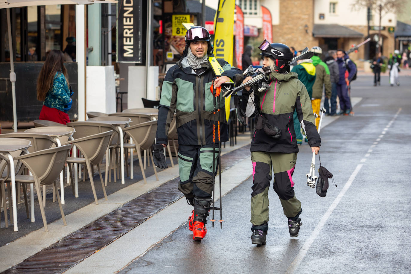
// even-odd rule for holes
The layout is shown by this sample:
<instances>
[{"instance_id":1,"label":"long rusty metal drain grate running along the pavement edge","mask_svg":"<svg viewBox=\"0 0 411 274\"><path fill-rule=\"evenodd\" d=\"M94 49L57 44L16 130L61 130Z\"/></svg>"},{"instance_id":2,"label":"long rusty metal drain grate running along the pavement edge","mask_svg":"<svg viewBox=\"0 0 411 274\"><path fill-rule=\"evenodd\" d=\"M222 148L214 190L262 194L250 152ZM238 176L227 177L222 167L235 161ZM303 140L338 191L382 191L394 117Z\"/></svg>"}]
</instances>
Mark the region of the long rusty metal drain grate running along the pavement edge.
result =
<instances>
[{"instance_id":1,"label":"long rusty metal drain grate running along the pavement edge","mask_svg":"<svg viewBox=\"0 0 411 274\"><path fill-rule=\"evenodd\" d=\"M222 156L222 170L248 156L249 146ZM2 273L62 273L129 232L183 195L175 178L131 200L106 216L67 235Z\"/></svg>"}]
</instances>

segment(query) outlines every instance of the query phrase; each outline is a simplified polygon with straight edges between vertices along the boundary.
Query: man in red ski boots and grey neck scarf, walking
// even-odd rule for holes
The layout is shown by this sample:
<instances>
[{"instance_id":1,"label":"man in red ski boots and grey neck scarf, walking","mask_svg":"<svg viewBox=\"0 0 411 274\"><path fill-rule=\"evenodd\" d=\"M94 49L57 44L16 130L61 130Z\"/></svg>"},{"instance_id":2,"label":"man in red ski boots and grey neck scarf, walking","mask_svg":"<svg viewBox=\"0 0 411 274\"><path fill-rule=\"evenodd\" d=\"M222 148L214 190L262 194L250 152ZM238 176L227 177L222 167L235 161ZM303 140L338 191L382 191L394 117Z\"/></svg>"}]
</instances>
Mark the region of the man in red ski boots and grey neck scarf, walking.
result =
<instances>
[{"instance_id":1,"label":"man in red ski boots and grey neck scarf, walking","mask_svg":"<svg viewBox=\"0 0 411 274\"><path fill-rule=\"evenodd\" d=\"M157 122L155 165L167 167L163 147L167 145L169 126L176 111L178 134L178 169L180 183L178 189L184 193L187 203L194 206L189 218L189 229L193 240L201 241L207 230L208 212L217 171L218 135L213 137L213 94L210 87L220 87L232 80L241 83L242 71L224 60L217 60L221 76L212 82L216 74L210 62L213 47L209 32L200 26L187 30L186 47L183 57L171 67L164 78ZM220 95L221 96L221 95ZM224 99L220 100L220 140L228 140L228 126L225 116ZM214 138L214 139L213 139ZM217 143L213 159L213 140ZM212 167L215 170L212 170Z\"/></svg>"}]
</instances>

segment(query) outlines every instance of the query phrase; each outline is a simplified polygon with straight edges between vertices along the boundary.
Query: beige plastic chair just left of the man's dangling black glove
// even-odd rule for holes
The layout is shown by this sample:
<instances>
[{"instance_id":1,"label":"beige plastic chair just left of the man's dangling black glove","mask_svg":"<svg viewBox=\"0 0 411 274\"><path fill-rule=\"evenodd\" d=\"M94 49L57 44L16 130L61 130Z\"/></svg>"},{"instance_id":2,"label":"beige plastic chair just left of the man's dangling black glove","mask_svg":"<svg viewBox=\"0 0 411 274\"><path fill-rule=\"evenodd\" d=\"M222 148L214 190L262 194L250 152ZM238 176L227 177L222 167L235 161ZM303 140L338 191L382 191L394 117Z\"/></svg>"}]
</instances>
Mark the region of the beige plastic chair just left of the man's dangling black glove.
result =
<instances>
[{"instance_id":1,"label":"beige plastic chair just left of the man's dangling black glove","mask_svg":"<svg viewBox=\"0 0 411 274\"><path fill-rule=\"evenodd\" d=\"M137 156L139 157L141 173L143 174L143 179L144 179L145 184L147 184L147 180L145 179L143 161L141 161L141 152L140 152L141 150L148 151L148 155L150 155L151 162L153 164L154 173L158 181L157 170L155 169L153 156L152 156L151 149L150 149L151 146L154 144L156 131L157 131L157 121L144 122L141 124L136 124L131 127L126 127L124 129L125 134L127 134L128 136L130 136L130 138L133 139L133 143L132 144L125 143L124 148L127 148L127 149L135 148L137 150ZM130 162L130 165L132 164L133 164L133 160L131 160Z\"/></svg>"}]
</instances>

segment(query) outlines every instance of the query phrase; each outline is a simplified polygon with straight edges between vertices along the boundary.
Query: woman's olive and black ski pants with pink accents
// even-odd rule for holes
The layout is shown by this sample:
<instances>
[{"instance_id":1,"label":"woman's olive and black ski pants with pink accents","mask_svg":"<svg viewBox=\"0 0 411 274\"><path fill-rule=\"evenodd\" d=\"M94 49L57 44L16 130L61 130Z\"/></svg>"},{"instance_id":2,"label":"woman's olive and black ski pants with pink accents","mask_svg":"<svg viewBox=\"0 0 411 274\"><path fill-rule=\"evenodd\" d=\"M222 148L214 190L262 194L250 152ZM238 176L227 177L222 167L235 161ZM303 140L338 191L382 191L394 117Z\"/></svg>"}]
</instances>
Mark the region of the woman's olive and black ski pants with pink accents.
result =
<instances>
[{"instance_id":1,"label":"woman's olive and black ski pants with pink accents","mask_svg":"<svg viewBox=\"0 0 411 274\"><path fill-rule=\"evenodd\" d=\"M253 163L253 186L251 193L252 230L268 230L268 189L272 171L274 191L277 193L284 215L295 219L301 212L301 203L294 194L292 175L296 166L297 153L251 152Z\"/></svg>"}]
</instances>

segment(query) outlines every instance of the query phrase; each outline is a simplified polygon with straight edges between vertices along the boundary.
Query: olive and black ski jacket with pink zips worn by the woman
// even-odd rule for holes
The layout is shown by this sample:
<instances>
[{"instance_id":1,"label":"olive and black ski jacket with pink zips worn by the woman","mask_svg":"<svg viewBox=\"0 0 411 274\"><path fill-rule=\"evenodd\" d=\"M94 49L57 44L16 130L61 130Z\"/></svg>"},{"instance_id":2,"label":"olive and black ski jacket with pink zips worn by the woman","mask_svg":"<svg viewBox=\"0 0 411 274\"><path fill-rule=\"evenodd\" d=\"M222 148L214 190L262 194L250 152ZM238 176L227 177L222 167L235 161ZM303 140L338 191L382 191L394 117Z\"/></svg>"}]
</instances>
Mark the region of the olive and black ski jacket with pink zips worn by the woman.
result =
<instances>
[{"instance_id":1,"label":"olive and black ski jacket with pink zips worn by the woman","mask_svg":"<svg viewBox=\"0 0 411 274\"><path fill-rule=\"evenodd\" d=\"M321 145L320 135L315 126L311 98L305 85L294 72L289 74L270 74L270 88L258 92L253 86L254 103L268 122L281 129L277 139L268 136L264 130L254 130L250 151L295 153L298 152L293 113L297 111L298 120L307 134L310 147ZM248 101L249 94L243 90L242 100Z\"/></svg>"}]
</instances>

